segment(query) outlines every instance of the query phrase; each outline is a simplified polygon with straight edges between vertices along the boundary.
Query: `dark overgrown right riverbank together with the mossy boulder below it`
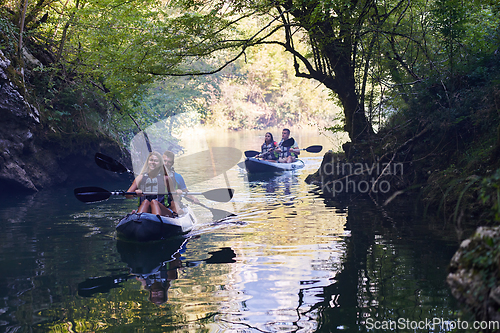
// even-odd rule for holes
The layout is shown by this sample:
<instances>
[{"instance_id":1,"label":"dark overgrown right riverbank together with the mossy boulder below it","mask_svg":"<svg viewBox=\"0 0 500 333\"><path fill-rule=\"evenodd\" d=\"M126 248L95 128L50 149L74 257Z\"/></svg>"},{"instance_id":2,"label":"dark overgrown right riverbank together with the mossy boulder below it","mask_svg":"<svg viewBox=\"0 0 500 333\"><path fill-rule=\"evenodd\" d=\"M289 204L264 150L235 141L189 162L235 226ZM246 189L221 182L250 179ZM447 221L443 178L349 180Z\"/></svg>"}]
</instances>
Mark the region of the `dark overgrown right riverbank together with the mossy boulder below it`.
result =
<instances>
[{"instance_id":1,"label":"dark overgrown right riverbank together with the mossy boulder below it","mask_svg":"<svg viewBox=\"0 0 500 333\"><path fill-rule=\"evenodd\" d=\"M457 232L486 227L462 234L472 237L448 277L477 320L497 320L500 308L499 63L496 54L481 75L428 83L375 137L328 152L306 179L325 197L348 200L357 191L388 211L410 198L422 202L431 224L451 224Z\"/></svg>"}]
</instances>

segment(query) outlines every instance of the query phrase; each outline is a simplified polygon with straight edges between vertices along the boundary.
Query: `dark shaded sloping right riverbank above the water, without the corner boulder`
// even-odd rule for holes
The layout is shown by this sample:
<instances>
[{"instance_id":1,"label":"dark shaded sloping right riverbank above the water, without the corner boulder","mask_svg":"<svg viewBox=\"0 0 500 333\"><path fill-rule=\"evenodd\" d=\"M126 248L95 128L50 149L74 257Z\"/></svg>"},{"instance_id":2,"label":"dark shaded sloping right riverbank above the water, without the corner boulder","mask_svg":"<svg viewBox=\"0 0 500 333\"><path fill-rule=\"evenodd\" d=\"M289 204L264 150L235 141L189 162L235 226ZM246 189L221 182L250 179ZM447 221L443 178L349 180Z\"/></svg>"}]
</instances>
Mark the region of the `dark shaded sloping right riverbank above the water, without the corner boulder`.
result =
<instances>
[{"instance_id":1,"label":"dark shaded sloping right riverbank above the water, without the corner boulder","mask_svg":"<svg viewBox=\"0 0 500 333\"><path fill-rule=\"evenodd\" d=\"M418 193L449 222L499 222L493 200L500 168L498 63L500 55L487 64L488 75L421 87L370 140L325 154L307 182L321 184L331 196L353 187L384 199ZM452 95L447 85L455 87Z\"/></svg>"}]
</instances>

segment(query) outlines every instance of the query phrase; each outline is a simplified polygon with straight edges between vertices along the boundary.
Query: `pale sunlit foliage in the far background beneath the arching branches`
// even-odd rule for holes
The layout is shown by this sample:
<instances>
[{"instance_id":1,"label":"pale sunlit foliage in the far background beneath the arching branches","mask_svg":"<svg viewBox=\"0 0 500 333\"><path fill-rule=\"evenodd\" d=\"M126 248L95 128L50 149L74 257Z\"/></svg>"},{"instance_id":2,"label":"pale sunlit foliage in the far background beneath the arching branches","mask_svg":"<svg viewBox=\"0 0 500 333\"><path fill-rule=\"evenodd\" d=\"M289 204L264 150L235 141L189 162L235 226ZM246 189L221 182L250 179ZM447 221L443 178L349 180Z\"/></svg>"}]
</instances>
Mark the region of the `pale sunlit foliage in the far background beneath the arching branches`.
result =
<instances>
[{"instance_id":1,"label":"pale sunlit foliage in the far background beneath the arching branches","mask_svg":"<svg viewBox=\"0 0 500 333\"><path fill-rule=\"evenodd\" d=\"M294 77L290 57L278 46L252 50L249 56L248 62L237 61L209 77L157 81L131 107L134 117L152 123L196 111L206 124L232 129L331 123L338 111L325 89Z\"/></svg>"}]
</instances>

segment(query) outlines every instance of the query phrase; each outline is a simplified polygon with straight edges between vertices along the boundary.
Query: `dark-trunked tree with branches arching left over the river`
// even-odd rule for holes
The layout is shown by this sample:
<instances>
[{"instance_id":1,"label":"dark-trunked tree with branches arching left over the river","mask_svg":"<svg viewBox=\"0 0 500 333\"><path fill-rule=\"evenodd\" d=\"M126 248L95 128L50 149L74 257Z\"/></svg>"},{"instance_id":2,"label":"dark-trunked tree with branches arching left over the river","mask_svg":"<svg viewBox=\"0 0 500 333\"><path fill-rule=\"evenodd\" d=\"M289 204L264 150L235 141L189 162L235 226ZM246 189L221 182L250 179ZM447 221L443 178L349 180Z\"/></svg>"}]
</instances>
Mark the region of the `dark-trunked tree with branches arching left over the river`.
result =
<instances>
[{"instance_id":1,"label":"dark-trunked tree with branches arching left over the river","mask_svg":"<svg viewBox=\"0 0 500 333\"><path fill-rule=\"evenodd\" d=\"M134 59L140 59L133 65L128 61L137 73L215 73L246 56L250 47L277 44L293 56L296 76L315 79L335 93L343 107L344 129L353 142L373 134L365 93L375 46L390 36L413 37L397 30L408 20L405 14L410 5L402 0L383 4L375 0L236 1L230 5L179 0L173 5L182 10L170 13L161 28L148 35L155 48L140 51L127 45L128 52L134 50ZM248 26L242 23L250 17L261 24L244 30ZM297 47L302 42L308 44L307 52ZM404 56L397 53L398 41L393 38L389 44L385 52L411 73ZM201 58L208 57L212 68L196 68Z\"/></svg>"}]
</instances>

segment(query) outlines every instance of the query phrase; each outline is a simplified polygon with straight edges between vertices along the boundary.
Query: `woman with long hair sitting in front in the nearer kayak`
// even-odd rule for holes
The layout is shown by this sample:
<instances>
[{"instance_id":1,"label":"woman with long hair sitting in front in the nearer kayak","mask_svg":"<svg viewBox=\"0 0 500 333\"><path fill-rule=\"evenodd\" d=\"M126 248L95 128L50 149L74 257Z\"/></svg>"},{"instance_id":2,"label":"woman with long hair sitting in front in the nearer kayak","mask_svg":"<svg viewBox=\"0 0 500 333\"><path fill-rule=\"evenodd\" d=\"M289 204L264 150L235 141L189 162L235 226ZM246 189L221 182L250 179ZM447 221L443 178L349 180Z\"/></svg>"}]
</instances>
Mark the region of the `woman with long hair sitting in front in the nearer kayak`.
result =
<instances>
[{"instance_id":1,"label":"woman with long hair sitting in front in the nearer kayak","mask_svg":"<svg viewBox=\"0 0 500 333\"><path fill-rule=\"evenodd\" d=\"M182 211L172 199L172 195L167 194L172 192L171 188L162 156L158 152L151 152L141 173L134 179L127 192L135 192L139 197L137 213L176 217ZM145 192L156 194L144 195ZM133 198L134 196L127 195L126 197Z\"/></svg>"}]
</instances>

